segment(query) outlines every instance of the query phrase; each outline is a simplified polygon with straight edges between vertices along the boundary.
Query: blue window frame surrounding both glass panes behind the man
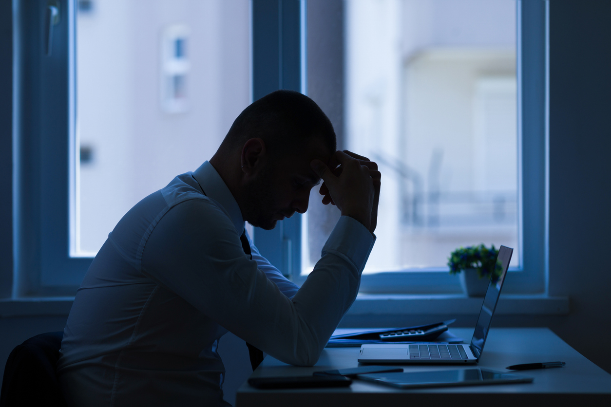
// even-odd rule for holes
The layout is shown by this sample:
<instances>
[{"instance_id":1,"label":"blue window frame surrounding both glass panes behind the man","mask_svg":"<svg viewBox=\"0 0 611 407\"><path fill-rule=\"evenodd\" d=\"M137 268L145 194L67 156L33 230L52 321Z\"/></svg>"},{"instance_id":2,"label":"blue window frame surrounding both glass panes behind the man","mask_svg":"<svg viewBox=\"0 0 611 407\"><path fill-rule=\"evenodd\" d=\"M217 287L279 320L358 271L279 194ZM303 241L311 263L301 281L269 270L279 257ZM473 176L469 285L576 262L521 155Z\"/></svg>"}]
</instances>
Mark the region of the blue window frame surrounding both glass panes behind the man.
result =
<instances>
[{"instance_id":1,"label":"blue window frame surrounding both glass panes behind the man","mask_svg":"<svg viewBox=\"0 0 611 407\"><path fill-rule=\"evenodd\" d=\"M46 21L49 5L59 10L55 21ZM76 4L13 0L1 7L1 18L12 16L13 38L7 44L2 37L0 48L0 73L10 71L2 75L0 98L2 106L12 106L0 113L0 186L12 191L0 200L4 224L10 225L0 232L0 241L7 243L0 254L13 262L0 269L0 296L73 295L92 261L70 257L69 247ZM306 7L294 0L252 3L253 99L278 88L305 93ZM547 292L548 10L547 1L518 1L523 267L514 270L505 292ZM304 280L299 276L301 222L296 215L273 231L254 234L262 253L298 283ZM443 293L456 287L458 279L446 270L377 273L363 276L361 284L365 292Z\"/></svg>"}]
</instances>

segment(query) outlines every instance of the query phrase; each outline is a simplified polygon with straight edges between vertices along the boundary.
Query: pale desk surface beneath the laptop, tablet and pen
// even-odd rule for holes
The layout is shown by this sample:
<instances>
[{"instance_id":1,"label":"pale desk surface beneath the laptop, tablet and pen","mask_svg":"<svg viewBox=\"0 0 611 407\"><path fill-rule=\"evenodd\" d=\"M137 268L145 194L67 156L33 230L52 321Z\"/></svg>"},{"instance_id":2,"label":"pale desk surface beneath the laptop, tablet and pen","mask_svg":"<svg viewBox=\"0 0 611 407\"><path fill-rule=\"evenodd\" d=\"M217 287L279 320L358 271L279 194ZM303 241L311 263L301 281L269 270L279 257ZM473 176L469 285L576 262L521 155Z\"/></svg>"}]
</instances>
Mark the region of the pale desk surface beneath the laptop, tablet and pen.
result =
<instances>
[{"instance_id":1,"label":"pale desk surface beneath the laptop, tablet and pen","mask_svg":"<svg viewBox=\"0 0 611 407\"><path fill-rule=\"evenodd\" d=\"M470 338L473 330L453 328L459 337ZM325 348L318 363L313 367L296 367L284 364L267 356L251 377L309 376L316 370L342 369L359 366L359 348ZM583 403L611 402L611 375L596 366L579 352L571 348L560 337L547 328L492 328L478 364L500 372L509 372L505 367L529 362L566 362L556 369L523 370L519 375L534 378L533 383L497 384L494 386L444 387L436 389L401 390L375 383L354 380L350 387L339 389L295 389L258 390L244 383L238 390L236 406L308 405L366 406L381 402L475 402L491 400L495 406L514 405L522 400L530 402L569 402L571 399ZM474 365L401 366L405 372L468 369ZM503 394L502 397L499 397ZM492 401L494 400L494 401Z\"/></svg>"}]
</instances>

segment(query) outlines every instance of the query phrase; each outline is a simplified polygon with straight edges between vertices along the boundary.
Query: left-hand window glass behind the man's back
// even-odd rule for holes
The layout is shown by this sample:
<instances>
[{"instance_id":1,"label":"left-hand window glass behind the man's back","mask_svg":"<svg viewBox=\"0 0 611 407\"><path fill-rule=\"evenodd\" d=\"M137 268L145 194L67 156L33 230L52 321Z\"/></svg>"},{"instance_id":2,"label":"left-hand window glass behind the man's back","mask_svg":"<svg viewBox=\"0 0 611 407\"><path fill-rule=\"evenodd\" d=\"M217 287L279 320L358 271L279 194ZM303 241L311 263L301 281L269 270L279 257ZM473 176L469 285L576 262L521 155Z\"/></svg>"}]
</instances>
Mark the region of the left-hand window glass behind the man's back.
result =
<instances>
[{"instance_id":1,"label":"left-hand window glass behind the man's back","mask_svg":"<svg viewBox=\"0 0 611 407\"><path fill-rule=\"evenodd\" d=\"M79 1L73 256L193 171L250 102L249 2Z\"/></svg>"}]
</instances>

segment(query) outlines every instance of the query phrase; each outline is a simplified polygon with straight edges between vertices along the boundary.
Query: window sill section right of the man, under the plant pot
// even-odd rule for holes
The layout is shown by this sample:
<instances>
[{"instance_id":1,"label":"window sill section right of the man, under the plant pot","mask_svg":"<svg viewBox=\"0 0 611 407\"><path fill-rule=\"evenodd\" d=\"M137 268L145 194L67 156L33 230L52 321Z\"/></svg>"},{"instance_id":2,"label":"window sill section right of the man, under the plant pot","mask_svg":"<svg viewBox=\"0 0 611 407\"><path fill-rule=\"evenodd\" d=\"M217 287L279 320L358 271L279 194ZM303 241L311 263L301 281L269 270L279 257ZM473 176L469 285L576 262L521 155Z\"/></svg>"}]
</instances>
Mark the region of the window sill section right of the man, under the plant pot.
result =
<instances>
[{"instance_id":1,"label":"window sill section right of the man, under the plant pot","mask_svg":"<svg viewBox=\"0 0 611 407\"><path fill-rule=\"evenodd\" d=\"M346 315L477 315L483 298L464 294L359 294ZM568 315L568 297L501 295L495 315Z\"/></svg>"}]
</instances>

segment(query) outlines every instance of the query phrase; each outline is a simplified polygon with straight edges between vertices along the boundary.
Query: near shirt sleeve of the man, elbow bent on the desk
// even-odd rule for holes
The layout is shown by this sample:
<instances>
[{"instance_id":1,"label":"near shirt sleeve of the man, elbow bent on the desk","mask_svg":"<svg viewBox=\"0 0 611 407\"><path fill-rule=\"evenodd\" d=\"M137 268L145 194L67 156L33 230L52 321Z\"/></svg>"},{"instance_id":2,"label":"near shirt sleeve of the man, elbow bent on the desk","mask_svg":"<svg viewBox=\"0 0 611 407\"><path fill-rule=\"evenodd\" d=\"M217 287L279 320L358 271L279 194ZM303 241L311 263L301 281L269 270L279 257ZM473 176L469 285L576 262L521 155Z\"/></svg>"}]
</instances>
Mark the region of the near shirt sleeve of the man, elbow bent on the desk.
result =
<instances>
[{"instance_id":1,"label":"near shirt sleeve of the man, elbow bent on the desk","mask_svg":"<svg viewBox=\"0 0 611 407\"><path fill-rule=\"evenodd\" d=\"M142 272L274 358L312 366L356 298L373 236L341 217L291 299L249 259L233 223L208 200L170 209L150 233Z\"/></svg>"}]
</instances>

